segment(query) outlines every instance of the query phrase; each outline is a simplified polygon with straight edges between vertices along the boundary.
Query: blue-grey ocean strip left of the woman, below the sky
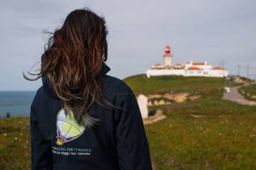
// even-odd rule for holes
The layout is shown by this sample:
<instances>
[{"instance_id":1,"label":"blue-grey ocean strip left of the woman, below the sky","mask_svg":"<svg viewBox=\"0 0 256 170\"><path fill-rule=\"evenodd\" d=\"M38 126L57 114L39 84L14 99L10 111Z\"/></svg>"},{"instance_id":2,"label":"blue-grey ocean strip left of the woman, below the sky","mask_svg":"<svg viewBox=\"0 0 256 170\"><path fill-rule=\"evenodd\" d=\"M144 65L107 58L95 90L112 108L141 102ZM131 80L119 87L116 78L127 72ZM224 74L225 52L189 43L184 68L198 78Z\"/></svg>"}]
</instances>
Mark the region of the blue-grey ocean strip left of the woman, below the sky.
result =
<instances>
[{"instance_id":1,"label":"blue-grey ocean strip left of the woman, below the sky","mask_svg":"<svg viewBox=\"0 0 256 170\"><path fill-rule=\"evenodd\" d=\"M0 91L0 117L29 116L36 91Z\"/></svg>"}]
</instances>

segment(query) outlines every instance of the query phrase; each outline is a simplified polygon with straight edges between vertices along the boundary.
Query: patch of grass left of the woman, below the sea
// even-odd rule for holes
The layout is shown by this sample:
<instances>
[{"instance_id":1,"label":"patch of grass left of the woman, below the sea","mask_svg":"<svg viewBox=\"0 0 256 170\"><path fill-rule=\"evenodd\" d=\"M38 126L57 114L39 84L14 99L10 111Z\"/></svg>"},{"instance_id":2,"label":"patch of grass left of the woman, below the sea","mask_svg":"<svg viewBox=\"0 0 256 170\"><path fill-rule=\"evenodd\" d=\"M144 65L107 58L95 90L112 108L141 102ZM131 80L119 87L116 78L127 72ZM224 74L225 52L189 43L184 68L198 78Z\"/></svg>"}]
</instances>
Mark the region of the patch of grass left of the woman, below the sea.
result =
<instances>
[{"instance_id":1,"label":"patch of grass left of the woman, below the sea","mask_svg":"<svg viewBox=\"0 0 256 170\"><path fill-rule=\"evenodd\" d=\"M0 118L0 169L30 169L28 118Z\"/></svg>"}]
</instances>

